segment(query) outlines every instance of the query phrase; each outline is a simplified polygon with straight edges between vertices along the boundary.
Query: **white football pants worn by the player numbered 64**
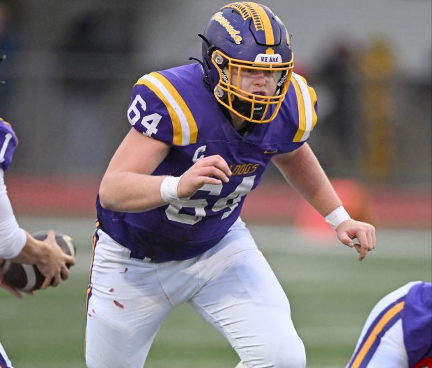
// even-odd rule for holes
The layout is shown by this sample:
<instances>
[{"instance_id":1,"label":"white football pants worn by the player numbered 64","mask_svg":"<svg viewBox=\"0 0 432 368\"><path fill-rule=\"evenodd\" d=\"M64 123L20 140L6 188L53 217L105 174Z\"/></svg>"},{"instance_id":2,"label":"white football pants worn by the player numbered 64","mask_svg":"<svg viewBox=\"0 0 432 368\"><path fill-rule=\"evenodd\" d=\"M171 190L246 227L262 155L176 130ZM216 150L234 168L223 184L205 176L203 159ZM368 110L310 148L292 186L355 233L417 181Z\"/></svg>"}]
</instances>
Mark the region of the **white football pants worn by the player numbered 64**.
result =
<instances>
[{"instance_id":1,"label":"white football pants worn by the player numbered 64","mask_svg":"<svg viewBox=\"0 0 432 368\"><path fill-rule=\"evenodd\" d=\"M88 368L142 368L157 330L185 301L247 367L306 366L288 298L240 219L216 246L185 261L133 259L105 232L97 234L88 289Z\"/></svg>"}]
</instances>

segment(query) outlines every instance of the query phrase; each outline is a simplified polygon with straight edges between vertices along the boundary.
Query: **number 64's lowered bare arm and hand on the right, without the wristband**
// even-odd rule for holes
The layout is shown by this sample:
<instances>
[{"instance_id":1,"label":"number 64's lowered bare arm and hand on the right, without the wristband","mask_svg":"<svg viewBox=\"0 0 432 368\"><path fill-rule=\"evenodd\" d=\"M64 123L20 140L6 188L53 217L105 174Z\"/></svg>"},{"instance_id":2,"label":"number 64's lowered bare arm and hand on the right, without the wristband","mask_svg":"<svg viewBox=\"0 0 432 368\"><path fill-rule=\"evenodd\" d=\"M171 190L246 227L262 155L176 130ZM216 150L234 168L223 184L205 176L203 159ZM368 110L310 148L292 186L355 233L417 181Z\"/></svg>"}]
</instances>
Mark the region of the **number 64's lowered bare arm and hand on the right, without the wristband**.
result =
<instances>
[{"instance_id":1,"label":"number 64's lowered bare arm and hand on the right, without the wristband","mask_svg":"<svg viewBox=\"0 0 432 368\"><path fill-rule=\"evenodd\" d=\"M273 163L293 188L323 216L342 205L323 168L307 143L293 152L273 157ZM355 247L359 260L375 248L375 228L368 223L349 219L337 226L337 236L346 246ZM354 243L357 239L358 243Z\"/></svg>"}]
</instances>

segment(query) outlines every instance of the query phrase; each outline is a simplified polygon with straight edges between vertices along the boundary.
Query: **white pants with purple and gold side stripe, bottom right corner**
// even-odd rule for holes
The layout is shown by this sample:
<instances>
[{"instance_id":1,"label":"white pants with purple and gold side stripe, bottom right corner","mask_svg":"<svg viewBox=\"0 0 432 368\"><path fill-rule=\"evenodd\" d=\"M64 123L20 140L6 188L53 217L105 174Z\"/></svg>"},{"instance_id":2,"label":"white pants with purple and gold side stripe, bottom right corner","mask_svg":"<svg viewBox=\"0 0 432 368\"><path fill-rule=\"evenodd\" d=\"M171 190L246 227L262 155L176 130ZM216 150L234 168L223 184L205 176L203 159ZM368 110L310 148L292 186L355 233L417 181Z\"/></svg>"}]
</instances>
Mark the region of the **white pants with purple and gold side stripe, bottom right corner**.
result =
<instances>
[{"instance_id":1,"label":"white pants with purple and gold side stripe, bottom right corner","mask_svg":"<svg viewBox=\"0 0 432 368\"><path fill-rule=\"evenodd\" d=\"M395 304L395 302L405 296L418 282L408 282L403 287L387 294L373 307L346 368L408 367L408 355L403 343L400 318L403 305ZM397 321L392 324L394 319Z\"/></svg>"}]
</instances>

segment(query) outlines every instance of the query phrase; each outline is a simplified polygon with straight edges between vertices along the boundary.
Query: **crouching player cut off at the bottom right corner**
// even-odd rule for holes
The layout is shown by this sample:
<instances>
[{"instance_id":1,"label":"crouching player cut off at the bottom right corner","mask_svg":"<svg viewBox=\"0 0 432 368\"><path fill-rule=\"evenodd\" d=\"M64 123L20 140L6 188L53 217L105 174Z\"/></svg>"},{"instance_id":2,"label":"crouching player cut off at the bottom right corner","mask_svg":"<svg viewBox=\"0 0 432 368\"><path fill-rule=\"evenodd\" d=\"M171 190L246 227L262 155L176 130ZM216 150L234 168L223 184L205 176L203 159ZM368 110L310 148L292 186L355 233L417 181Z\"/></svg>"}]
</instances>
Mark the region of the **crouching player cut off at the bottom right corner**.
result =
<instances>
[{"instance_id":1,"label":"crouching player cut off at the bottom right corner","mask_svg":"<svg viewBox=\"0 0 432 368\"><path fill-rule=\"evenodd\" d=\"M408 282L373 307L346 368L432 368L432 284Z\"/></svg>"}]
</instances>

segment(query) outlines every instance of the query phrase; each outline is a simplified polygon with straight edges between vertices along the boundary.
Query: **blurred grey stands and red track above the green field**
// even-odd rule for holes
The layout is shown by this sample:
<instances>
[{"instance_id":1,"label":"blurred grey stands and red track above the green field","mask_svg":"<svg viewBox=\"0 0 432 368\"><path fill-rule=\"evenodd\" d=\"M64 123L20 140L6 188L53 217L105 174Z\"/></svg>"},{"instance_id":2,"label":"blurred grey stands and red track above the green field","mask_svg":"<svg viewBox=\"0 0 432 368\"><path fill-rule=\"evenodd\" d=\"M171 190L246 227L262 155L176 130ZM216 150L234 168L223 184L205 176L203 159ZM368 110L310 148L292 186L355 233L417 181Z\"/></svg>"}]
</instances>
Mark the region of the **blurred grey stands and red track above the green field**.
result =
<instances>
[{"instance_id":1,"label":"blurred grey stands and red track above the green field","mask_svg":"<svg viewBox=\"0 0 432 368\"><path fill-rule=\"evenodd\" d=\"M196 34L225 3L0 0L0 111L20 138L8 173L17 209L93 214L130 129L135 81L200 57ZM431 1L267 4L293 35L296 72L316 88L310 144L327 174L363 186L383 225L430 226ZM282 181L273 167L268 177Z\"/></svg>"}]
</instances>

